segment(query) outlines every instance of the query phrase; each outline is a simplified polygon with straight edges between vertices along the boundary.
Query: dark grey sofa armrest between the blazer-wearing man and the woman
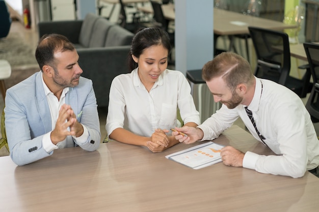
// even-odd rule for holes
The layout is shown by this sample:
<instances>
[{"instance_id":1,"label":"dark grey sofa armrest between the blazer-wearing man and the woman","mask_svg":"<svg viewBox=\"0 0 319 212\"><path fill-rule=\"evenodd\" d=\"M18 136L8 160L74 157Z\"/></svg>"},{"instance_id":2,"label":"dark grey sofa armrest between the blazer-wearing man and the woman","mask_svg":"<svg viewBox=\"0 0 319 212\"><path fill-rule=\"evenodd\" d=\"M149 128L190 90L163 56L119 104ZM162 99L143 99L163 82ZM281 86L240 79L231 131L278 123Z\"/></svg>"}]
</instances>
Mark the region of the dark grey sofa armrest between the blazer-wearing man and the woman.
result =
<instances>
[{"instance_id":1,"label":"dark grey sofa armrest between the blazer-wearing man and the woman","mask_svg":"<svg viewBox=\"0 0 319 212\"><path fill-rule=\"evenodd\" d=\"M77 49L83 77L93 81L99 107L109 106L112 80L117 75L130 72L127 65L130 46Z\"/></svg>"}]
</instances>

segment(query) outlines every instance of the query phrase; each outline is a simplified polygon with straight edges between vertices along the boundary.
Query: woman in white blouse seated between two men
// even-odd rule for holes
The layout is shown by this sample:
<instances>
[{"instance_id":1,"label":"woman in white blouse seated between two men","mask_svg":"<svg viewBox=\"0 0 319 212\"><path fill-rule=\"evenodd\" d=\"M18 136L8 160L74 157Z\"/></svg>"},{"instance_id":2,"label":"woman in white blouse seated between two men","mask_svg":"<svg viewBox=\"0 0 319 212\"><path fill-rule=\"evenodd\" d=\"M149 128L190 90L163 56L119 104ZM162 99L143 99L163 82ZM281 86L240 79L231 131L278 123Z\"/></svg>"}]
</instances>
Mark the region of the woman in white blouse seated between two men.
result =
<instances>
[{"instance_id":1,"label":"woman in white blouse seated between two men","mask_svg":"<svg viewBox=\"0 0 319 212\"><path fill-rule=\"evenodd\" d=\"M128 58L131 73L114 78L105 128L110 139L147 146L152 152L179 143L170 128L200 123L191 87L179 71L168 70L171 45L159 28L144 28L132 40Z\"/></svg>"}]
</instances>

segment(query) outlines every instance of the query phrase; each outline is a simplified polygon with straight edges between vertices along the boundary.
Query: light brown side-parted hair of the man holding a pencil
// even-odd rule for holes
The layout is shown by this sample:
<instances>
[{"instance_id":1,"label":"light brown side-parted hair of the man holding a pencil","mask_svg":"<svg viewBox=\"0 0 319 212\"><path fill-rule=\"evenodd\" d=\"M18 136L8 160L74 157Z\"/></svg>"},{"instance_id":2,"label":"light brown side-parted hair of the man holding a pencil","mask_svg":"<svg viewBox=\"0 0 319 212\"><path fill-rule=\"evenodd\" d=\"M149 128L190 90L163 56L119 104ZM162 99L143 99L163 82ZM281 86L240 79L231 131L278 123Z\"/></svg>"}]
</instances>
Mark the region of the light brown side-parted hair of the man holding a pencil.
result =
<instances>
[{"instance_id":1,"label":"light brown side-parted hair of the man holding a pencil","mask_svg":"<svg viewBox=\"0 0 319 212\"><path fill-rule=\"evenodd\" d=\"M210 81L222 77L231 91L240 83L252 85L254 75L248 61L233 52L223 52L207 62L202 69L202 78Z\"/></svg>"}]
</instances>

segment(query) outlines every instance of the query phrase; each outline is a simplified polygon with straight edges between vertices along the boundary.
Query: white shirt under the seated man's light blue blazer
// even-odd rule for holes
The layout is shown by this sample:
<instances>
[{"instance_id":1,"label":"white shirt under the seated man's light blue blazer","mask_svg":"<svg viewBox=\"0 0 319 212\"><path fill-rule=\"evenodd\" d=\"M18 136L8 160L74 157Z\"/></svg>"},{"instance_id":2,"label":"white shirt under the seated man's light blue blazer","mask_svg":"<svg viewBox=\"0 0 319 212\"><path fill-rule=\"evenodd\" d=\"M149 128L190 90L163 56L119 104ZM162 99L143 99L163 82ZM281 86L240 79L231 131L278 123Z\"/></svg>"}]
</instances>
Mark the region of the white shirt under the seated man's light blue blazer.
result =
<instances>
[{"instance_id":1,"label":"white shirt under the seated man's light blue blazer","mask_svg":"<svg viewBox=\"0 0 319 212\"><path fill-rule=\"evenodd\" d=\"M41 75L42 75L42 72L41 72ZM63 89L62 94L61 94L61 98L59 101L58 98L51 92L51 90L48 88L48 86L44 83L43 76L42 76L42 84L43 84L46 99L48 101L48 105L50 108L50 114L51 114L51 120L52 120L52 130L54 130L56 127L57 119L59 117L59 111L61 109L61 106L63 104L65 104L65 94L69 91L69 88L66 87ZM89 138L89 131L84 125L82 125L82 126L84 129L84 132L81 136L79 136L79 137L67 136L63 141L57 143L57 145L53 144L51 141L51 132L52 131L46 133L42 138L43 148L45 149L45 151L47 153L50 153L52 150L57 149L57 148L69 147L69 146L66 146L66 144L68 143L68 142L66 142L66 140L73 139L73 138L76 140L76 142L78 144L84 144L87 141L87 139ZM70 129L68 128L68 130L70 130ZM70 142L70 143L72 143L72 142Z\"/></svg>"}]
</instances>

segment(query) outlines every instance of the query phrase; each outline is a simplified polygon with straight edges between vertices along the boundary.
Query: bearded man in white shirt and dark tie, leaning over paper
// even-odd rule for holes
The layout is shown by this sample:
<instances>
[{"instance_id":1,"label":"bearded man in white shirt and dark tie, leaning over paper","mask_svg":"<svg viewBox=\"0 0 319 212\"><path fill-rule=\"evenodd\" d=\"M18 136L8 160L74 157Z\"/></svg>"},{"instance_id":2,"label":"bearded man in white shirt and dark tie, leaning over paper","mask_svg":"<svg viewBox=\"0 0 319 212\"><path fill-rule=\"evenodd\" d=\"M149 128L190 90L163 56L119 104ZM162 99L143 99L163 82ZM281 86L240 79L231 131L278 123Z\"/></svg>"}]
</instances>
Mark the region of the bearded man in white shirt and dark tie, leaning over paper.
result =
<instances>
[{"instance_id":1,"label":"bearded man in white shirt and dark tie, leaning over paper","mask_svg":"<svg viewBox=\"0 0 319 212\"><path fill-rule=\"evenodd\" d=\"M304 176L307 170L318 174L319 141L308 111L294 92L255 77L247 60L232 52L206 63L202 77L215 102L223 105L196 128L176 128L188 135L173 132L176 139L184 143L215 139L241 117L249 132L276 155L242 153L226 146L221 150L225 165L294 178Z\"/></svg>"}]
</instances>

